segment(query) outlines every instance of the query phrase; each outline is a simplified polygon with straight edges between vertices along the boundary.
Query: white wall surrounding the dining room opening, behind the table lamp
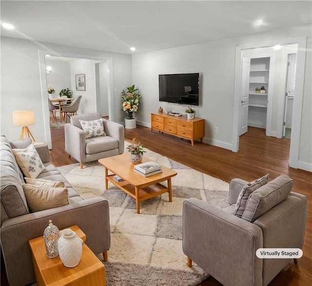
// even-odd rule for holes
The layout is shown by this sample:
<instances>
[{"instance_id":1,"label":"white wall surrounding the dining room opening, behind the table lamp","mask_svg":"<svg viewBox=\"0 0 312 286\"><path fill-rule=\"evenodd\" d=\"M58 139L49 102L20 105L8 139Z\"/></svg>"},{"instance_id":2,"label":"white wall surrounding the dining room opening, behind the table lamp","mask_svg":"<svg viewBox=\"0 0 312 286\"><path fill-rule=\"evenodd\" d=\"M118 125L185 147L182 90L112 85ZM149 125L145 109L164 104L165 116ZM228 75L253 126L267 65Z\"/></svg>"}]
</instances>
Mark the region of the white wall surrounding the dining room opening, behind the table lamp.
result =
<instances>
[{"instance_id":1,"label":"white wall surrounding the dining room opening, behind the table lamp","mask_svg":"<svg viewBox=\"0 0 312 286\"><path fill-rule=\"evenodd\" d=\"M34 110L36 123L30 131L36 141L45 141L43 116L49 120L49 113L43 111L42 93L46 91L41 93L39 50L112 58L115 121L124 121L120 93L132 84L131 55L1 37L1 134L8 139L20 138L21 127L13 126L12 111Z\"/></svg>"}]
</instances>

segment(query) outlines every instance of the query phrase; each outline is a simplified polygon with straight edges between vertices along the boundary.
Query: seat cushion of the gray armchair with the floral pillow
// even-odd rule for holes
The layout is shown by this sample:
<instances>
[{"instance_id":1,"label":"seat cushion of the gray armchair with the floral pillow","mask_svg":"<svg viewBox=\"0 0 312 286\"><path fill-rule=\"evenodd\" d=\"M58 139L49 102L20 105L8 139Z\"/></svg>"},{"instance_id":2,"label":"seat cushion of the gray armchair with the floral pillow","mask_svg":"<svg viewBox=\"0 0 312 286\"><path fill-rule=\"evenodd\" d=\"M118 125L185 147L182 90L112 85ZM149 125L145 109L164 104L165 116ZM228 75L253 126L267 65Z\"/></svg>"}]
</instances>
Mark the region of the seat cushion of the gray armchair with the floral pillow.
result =
<instances>
[{"instance_id":1,"label":"seat cushion of the gray armchair with the floral pillow","mask_svg":"<svg viewBox=\"0 0 312 286\"><path fill-rule=\"evenodd\" d=\"M118 148L118 141L110 136L92 137L86 139L86 153L96 154Z\"/></svg>"}]
</instances>

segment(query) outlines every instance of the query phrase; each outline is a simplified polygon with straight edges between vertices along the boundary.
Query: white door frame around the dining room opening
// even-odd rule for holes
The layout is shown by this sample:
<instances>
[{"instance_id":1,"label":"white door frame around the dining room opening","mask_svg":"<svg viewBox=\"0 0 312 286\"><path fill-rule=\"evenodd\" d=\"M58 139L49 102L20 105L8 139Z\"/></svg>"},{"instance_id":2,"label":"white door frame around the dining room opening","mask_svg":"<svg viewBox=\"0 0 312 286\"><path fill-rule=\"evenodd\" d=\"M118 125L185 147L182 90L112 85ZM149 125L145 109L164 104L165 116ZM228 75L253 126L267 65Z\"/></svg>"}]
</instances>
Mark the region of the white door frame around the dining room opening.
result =
<instances>
[{"instance_id":1,"label":"white door frame around the dining room opening","mask_svg":"<svg viewBox=\"0 0 312 286\"><path fill-rule=\"evenodd\" d=\"M113 93L113 59L111 57L79 55L79 54L62 53L62 52L49 51L49 50L38 50L44 136L45 136L45 142L47 143L49 149L52 149L52 140L51 140L51 130L50 130L50 114L48 112L49 107L48 107L48 100L47 100L47 93L46 93L48 87L47 87L46 73L45 73L45 55L50 55L54 57L73 57L77 59L101 60L101 61L108 62L109 119L112 121L115 121L115 108L114 108L115 104L114 104L114 93ZM96 101L97 101L97 98L96 98Z\"/></svg>"}]
</instances>

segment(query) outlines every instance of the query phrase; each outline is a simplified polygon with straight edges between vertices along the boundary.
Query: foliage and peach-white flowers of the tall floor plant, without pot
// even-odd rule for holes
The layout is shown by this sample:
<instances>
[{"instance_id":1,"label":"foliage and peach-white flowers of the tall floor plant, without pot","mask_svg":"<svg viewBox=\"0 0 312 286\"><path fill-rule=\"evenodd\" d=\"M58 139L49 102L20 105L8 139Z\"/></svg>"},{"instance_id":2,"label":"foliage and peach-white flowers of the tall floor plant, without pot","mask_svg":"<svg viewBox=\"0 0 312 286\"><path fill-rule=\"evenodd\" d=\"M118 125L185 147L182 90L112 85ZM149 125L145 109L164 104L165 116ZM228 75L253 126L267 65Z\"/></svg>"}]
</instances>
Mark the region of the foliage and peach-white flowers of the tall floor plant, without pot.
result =
<instances>
[{"instance_id":1,"label":"foliage and peach-white flowers of the tall floor plant, without pot","mask_svg":"<svg viewBox=\"0 0 312 286\"><path fill-rule=\"evenodd\" d=\"M133 119L133 114L138 111L141 99L138 88L135 85L127 87L127 91L122 91L121 98L122 110L127 113L127 119Z\"/></svg>"}]
</instances>

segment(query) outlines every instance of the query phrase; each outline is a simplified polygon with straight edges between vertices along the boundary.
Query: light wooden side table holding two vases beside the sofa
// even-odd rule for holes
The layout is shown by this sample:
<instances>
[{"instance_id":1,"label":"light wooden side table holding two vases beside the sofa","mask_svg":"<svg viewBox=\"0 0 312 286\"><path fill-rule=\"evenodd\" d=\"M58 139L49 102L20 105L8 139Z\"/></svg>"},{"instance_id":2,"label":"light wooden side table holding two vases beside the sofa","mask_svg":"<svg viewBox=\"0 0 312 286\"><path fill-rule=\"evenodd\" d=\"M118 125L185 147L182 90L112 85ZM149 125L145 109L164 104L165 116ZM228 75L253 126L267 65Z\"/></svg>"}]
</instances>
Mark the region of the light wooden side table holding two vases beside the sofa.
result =
<instances>
[{"instance_id":1,"label":"light wooden side table holding two vases beside the sofa","mask_svg":"<svg viewBox=\"0 0 312 286\"><path fill-rule=\"evenodd\" d=\"M76 232L83 242L86 235L78 226L69 227ZM106 285L105 267L98 257L85 244L82 245L82 256L78 266L65 267L59 256L48 258L46 255L43 236L29 241L32 251L33 265L37 285Z\"/></svg>"}]
</instances>

